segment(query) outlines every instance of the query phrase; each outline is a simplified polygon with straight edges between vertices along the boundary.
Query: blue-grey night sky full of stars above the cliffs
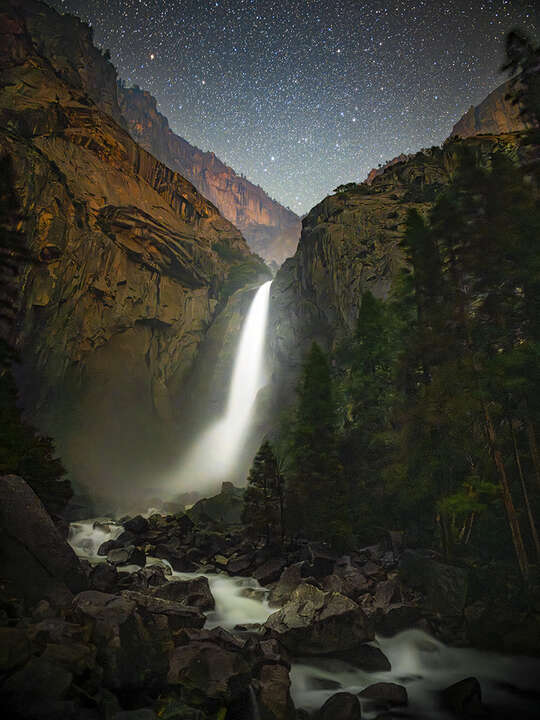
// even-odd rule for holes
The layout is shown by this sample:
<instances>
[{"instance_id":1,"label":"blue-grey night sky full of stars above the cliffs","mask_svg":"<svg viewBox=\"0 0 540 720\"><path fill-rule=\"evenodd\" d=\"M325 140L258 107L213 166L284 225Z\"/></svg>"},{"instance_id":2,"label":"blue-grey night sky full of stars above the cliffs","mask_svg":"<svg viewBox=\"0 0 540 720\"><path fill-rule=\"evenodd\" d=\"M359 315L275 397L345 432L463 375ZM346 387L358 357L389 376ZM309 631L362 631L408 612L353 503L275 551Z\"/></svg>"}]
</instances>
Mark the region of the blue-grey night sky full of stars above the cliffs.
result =
<instances>
[{"instance_id":1,"label":"blue-grey night sky full of stars above the cliffs","mask_svg":"<svg viewBox=\"0 0 540 720\"><path fill-rule=\"evenodd\" d=\"M49 0L172 129L298 213L440 144L502 80L535 0Z\"/></svg>"}]
</instances>

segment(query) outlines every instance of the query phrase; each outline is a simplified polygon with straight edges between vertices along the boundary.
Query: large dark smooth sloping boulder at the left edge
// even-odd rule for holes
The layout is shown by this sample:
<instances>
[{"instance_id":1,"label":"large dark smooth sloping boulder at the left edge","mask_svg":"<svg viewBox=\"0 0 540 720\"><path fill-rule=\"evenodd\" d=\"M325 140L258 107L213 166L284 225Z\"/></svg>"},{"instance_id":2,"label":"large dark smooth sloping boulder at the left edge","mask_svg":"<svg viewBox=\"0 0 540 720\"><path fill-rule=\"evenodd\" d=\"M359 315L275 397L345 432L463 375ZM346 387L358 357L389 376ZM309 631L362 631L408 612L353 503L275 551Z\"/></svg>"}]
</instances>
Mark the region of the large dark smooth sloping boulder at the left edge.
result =
<instances>
[{"instance_id":1,"label":"large dark smooth sloping boulder at the left edge","mask_svg":"<svg viewBox=\"0 0 540 720\"><path fill-rule=\"evenodd\" d=\"M0 478L0 576L7 592L30 604L71 603L88 586L83 568L43 503L20 477Z\"/></svg>"}]
</instances>

